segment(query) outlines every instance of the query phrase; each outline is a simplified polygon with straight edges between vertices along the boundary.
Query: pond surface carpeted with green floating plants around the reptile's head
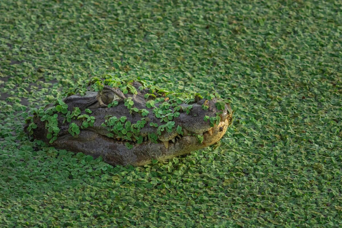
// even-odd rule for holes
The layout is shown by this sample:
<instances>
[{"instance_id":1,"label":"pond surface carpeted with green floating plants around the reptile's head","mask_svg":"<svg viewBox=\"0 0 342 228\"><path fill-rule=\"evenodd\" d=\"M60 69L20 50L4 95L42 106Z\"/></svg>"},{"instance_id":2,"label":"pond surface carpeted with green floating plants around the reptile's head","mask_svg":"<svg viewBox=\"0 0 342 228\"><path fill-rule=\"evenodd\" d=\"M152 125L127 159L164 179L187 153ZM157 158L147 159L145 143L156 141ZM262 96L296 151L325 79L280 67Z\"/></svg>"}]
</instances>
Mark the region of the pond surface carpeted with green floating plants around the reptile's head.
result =
<instances>
[{"instance_id":1,"label":"pond surface carpeted with green floating plants around the reptile's head","mask_svg":"<svg viewBox=\"0 0 342 228\"><path fill-rule=\"evenodd\" d=\"M341 227L342 1L1 1L0 227ZM93 76L231 98L219 144L143 167L31 142Z\"/></svg>"}]
</instances>

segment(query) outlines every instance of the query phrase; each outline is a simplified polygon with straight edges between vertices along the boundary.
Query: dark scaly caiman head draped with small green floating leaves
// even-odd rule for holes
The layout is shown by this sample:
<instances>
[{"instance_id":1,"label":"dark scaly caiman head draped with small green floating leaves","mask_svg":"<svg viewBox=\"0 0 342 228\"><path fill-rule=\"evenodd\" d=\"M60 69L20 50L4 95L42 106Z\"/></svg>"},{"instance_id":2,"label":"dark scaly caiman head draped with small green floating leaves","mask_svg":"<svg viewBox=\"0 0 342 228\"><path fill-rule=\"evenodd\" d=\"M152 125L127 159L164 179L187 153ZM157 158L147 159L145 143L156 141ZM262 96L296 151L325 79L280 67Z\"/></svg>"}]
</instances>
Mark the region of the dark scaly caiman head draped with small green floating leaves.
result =
<instances>
[{"instance_id":1,"label":"dark scaly caiman head draped with small green floating leaves","mask_svg":"<svg viewBox=\"0 0 342 228\"><path fill-rule=\"evenodd\" d=\"M226 102L107 75L35 109L25 131L56 148L139 166L218 142L232 122Z\"/></svg>"}]
</instances>

